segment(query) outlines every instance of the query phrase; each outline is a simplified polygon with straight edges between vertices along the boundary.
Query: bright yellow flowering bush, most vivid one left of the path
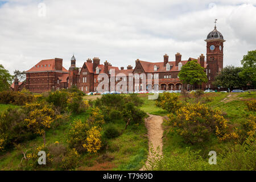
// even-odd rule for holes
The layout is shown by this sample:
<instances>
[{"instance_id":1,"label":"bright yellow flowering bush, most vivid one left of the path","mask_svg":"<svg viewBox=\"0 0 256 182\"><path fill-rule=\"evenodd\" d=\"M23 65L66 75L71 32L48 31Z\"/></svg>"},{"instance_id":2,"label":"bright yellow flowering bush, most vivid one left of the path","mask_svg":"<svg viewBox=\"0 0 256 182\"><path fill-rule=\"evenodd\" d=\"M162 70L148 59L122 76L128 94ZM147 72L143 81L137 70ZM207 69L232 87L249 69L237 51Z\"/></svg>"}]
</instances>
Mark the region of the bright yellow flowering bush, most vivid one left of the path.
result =
<instances>
[{"instance_id":1,"label":"bright yellow flowering bush, most vivid one left of the path","mask_svg":"<svg viewBox=\"0 0 256 182\"><path fill-rule=\"evenodd\" d=\"M101 144L101 128L93 126L87 131L85 144L82 145L89 153L97 153L102 147Z\"/></svg>"}]
</instances>

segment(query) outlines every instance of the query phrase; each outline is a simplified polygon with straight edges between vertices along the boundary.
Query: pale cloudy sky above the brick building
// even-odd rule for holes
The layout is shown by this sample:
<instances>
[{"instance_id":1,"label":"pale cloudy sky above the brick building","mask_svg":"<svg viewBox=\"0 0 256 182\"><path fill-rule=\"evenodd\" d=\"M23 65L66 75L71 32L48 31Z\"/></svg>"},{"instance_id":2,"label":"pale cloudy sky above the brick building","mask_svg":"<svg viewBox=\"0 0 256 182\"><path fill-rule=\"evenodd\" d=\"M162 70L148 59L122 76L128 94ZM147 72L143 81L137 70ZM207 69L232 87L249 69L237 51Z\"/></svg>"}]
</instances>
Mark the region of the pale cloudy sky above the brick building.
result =
<instances>
[{"instance_id":1,"label":"pale cloudy sky above the brick building","mask_svg":"<svg viewBox=\"0 0 256 182\"><path fill-rule=\"evenodd\" d=\"M68 69L73 53L77 67L93 57L118 67L197 58L214 19L224 66L239 66L256 49L256 0L0 0L0 64L13 73L54 57Z\"/></svg>"}]
</instances>

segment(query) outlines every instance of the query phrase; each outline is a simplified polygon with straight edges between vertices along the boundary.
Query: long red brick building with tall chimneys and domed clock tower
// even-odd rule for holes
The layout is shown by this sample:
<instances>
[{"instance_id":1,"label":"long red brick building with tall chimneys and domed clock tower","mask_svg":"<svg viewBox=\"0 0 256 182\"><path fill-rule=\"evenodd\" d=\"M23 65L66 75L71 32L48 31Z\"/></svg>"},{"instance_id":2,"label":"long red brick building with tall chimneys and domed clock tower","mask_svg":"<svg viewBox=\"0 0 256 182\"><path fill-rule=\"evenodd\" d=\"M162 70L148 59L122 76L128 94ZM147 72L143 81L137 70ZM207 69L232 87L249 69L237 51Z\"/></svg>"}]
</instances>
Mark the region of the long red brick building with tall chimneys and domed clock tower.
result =
<instances>
[{"instance_id":1,"label":"long red brick building with tall chimneys and domed clock tower","mask_svg":"<svg viewBox=\"0 0 256 182\"><path fill-rule=\"evenodd\" d=\"M197 60L197 63L205 68L208 82L202 84L201 89L213 88L212 81L223 68L223 43L225 40L215 26L214 30L208 34L205 42L207 42L206 60L203 54L197 59L189 57L185 60L181 60L180 53L176 53L174 60L169 60L169 56L166 54L163 56L162 61L156 63L137 59L135 60L134 69L131 65L128 65L127 69L124 69L124 67L119 69L118 67L113 67L108 61L100 64L98 57L94 57L93 60L86 60L81 68L77 68L76 58L72 56L71 67L67 71L62 66L62 59L42 60L27 71L26 88L32 92L46 92L76 85L77 88L85 93L94 92L99 84L98 76L101 73L106 73L109 82L108 90L110 91L115 90L115 86L111 85L110 82L114 81L115 84L118 84L122 80L127 82L127 88L129 87L129 81L133 81L133 85L131 85L133 91L155 89L156 87L159 90L190 89L190 85L182 84L178 73L181 67L191 60ZM120 76L121 73L123 76ZM133 76L129 76L132 73ZM142 84L144 76L147 79L146 88L143 88ZM127 88L121 86L121 91L126 91Z\"/></svg>"}]
</instances>

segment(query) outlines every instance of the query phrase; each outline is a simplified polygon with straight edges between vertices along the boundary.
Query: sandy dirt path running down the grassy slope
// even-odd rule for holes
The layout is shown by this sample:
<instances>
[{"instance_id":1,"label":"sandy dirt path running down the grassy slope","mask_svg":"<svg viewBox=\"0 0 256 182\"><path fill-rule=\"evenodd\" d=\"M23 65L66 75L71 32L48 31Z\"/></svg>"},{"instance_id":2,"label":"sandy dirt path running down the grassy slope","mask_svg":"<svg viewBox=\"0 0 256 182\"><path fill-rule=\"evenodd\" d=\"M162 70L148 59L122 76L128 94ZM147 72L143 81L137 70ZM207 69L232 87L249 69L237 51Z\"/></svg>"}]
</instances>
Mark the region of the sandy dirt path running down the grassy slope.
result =
<instances>
[{"instance_id":1,"label":"sandy dirt path running down the grassy slope","mask_svg":"<svg viewBox=\"0 0 256 182\"><path fill-rule=\"evenodd\" d=\"M156 151L156 148L159 146L160 151L159 154L162 155L162 147L163 147L163 129L162 129L162 123L163 123L163 117L159 115L151 115L148 114L150 117L148 117L145 121L146 127L147 127L147 135L148 135L148 157L147 162L145 166L148 166L148 160L152 157L150 147ZM145 168L142 167L140 171L143 171Z\"/></svg>"}]
</instances>

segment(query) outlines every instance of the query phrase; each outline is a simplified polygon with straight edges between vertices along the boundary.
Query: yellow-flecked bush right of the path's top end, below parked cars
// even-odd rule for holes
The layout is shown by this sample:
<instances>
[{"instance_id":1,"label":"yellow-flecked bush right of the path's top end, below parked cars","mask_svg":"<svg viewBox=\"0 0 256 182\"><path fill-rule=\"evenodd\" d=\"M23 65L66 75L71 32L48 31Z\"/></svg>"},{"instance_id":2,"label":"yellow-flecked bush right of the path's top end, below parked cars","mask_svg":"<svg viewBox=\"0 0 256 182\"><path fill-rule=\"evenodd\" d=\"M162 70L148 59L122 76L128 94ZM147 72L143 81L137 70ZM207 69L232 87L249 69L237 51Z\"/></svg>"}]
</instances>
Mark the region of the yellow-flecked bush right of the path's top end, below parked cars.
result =
<instances>
[{"instance_id":1,"label":"yellow-flecked bush right of the path's top end, below parked cars","mask_svg":"<svg viewBox=\"0 0 256 182\"><path fill-rule=\"evenodd\" d=\"M167 110L168 113L174 113L180 107L178 96L175 93L164 92L159 94L158 100L155 101L155 105Z\"/></svg>"}]
</instances>

